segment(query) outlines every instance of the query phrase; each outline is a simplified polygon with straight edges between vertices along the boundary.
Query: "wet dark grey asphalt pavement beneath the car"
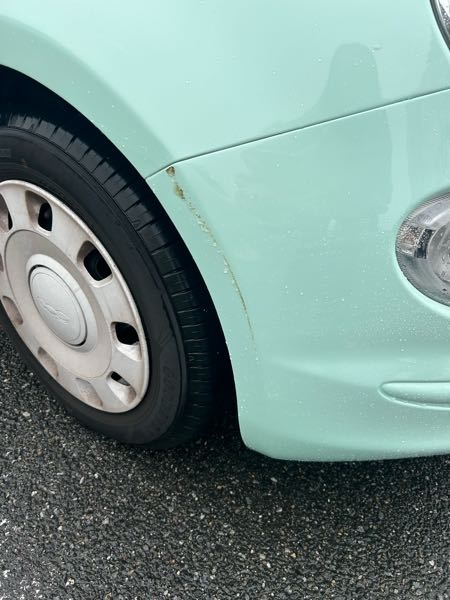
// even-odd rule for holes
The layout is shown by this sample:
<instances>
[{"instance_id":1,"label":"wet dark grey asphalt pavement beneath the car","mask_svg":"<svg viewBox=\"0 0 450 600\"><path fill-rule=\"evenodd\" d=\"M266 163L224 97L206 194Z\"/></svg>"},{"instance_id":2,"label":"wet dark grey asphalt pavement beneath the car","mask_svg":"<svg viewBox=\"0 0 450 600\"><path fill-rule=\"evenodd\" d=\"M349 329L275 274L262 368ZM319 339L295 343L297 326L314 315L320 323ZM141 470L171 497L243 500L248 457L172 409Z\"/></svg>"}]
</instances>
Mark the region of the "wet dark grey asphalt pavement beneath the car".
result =
<instances>
[{"instance_id":1,"label":"wet dark grey asphalt pavement beneath the car","mask_svg":"<svg viewBox=\"0 0 450 600\"><path fill-rule=\"evenodd\" d=\"M450 458L169 452L66 415L0 332L0 600L450 598Z\"/></svg>"}]
</instances>

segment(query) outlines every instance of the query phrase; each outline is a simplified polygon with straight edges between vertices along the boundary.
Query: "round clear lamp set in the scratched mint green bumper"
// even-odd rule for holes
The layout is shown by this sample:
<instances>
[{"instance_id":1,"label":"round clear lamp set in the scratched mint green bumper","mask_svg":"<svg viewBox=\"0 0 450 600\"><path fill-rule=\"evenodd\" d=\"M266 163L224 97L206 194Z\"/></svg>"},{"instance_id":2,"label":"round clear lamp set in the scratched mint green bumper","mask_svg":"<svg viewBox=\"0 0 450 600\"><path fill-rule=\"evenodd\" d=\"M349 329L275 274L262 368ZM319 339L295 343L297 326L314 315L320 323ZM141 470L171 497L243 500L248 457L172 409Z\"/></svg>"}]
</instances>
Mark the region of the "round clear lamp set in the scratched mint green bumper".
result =
<instances>
[{"instance_id":1,"label":"round clear lamp set in the scratched mint green bumper","mask_svg":"<svg viewBox=\"0 0 450 600\"><path fill-rule=\"evenodd\" d=\"M403 274L423 294L450 305L450 195L412 212L397 236Z\"/></svg>"}]
</instances>

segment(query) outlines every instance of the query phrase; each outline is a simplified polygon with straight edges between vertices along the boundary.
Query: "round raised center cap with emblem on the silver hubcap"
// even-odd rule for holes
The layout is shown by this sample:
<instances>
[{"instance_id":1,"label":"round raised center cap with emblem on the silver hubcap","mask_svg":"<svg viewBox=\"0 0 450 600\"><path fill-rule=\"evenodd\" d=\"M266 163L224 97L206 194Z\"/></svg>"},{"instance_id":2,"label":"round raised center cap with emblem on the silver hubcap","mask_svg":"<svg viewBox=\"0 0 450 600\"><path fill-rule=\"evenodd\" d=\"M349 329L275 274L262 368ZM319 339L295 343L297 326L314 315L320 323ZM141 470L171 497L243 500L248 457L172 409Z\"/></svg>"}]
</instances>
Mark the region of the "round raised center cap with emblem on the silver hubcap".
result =
<instances>
[{"instance_id":1,"label":"round raised center cap with emblem on the silver hubcap","mask_svg":"<svg viewBox=\"0 0 450 600\"><path fill-rule=\"evenodd\" d=\"M66 344L80 346L87 336L86 320L77 299L81 290L72 290L48 267L35 267L29 284L34 304L46 325Z\"/></svg>"}]
</instances>

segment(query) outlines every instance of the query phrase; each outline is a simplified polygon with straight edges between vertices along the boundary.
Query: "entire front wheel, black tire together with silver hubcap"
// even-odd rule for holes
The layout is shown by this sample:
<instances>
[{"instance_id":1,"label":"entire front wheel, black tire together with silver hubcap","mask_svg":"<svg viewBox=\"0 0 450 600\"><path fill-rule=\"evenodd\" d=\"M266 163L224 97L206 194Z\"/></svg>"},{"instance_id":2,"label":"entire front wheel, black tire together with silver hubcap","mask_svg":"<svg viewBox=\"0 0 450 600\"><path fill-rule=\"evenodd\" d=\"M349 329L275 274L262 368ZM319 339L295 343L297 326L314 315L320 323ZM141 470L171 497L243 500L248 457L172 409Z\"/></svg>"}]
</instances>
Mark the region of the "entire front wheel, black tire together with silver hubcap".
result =
<instances>
[{"instance_id":1,"label":"entire front wheel, black tire together with silver hubcap","mask_svg":"<svg viewBox=\"0 0 450 600\"><path fill-rule=\"evenodd\" d=\"M167 215L81 117L0 110L4 327L90 427L157 447L196 435L215 410L223 339Z\"/></svg>"}]
</instances>

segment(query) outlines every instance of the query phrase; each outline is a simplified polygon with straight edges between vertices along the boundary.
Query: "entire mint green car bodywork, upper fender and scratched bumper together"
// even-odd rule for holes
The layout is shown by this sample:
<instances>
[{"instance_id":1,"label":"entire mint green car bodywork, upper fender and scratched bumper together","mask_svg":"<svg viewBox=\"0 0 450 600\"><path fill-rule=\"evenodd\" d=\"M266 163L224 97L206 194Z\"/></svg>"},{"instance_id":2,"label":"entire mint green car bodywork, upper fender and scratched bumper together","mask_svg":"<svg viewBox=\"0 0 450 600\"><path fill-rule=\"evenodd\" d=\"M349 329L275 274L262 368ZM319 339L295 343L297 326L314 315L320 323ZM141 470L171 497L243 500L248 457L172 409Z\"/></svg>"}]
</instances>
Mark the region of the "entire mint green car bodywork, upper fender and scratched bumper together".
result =
<instances>
[{"instance_id":1,"label":"entire mint green car bodywork, upper fender and scratched bumper together","mask_svg":"<svg viewBox=\"0 0 450 600\"><path fill-rule=\"evenodd\" d=\"M0 64L147 179L214 301L250 448L450 451L450 309L395 257L406 215L450 189L428 0L22 0L0 8Z\"/></svg>"}]
</instances>

